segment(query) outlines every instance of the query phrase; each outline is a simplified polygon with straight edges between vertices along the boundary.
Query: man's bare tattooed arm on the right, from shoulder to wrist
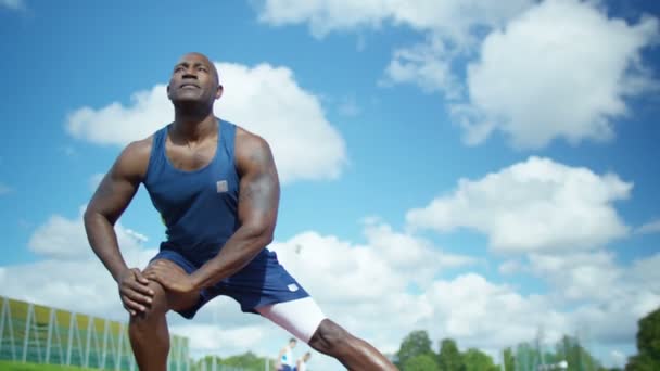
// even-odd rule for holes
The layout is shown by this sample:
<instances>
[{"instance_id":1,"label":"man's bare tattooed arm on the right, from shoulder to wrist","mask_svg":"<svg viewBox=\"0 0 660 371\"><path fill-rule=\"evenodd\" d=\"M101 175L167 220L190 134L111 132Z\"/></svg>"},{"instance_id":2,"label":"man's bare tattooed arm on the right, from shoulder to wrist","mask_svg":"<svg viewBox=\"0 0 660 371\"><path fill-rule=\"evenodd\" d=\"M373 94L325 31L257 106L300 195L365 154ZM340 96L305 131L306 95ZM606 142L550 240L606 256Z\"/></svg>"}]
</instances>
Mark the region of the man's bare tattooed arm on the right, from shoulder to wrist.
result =
<instances>
[{"instance_id":1,"label":"man's bare tattooed arm on the right, from shoulder to wrist","mask_svg":"<svg viewBox=\"0 0 660 371\"><path fill-rule=\"evenodd\" d=\"M262 138L240 130L236 145L240 176L240 227L220 253L192 273L194 289L211 286L232 276L272 241L280 187L270 148Z\"/></svg>"}]
</instances>

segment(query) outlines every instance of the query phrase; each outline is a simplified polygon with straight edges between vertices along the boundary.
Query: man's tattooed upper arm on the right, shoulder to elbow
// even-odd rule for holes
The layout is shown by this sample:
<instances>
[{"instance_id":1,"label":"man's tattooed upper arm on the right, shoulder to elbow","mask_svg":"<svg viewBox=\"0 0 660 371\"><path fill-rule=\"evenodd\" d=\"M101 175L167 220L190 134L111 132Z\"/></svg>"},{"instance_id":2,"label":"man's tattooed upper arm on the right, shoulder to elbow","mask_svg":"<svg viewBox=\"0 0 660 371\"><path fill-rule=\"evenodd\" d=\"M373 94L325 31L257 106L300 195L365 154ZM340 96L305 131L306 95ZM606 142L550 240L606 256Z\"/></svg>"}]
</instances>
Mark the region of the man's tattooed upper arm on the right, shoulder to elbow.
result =
<instances>
[{"instance_id":1,"label":"man's tattooed upper arm on the right, shoulder to elbow","mask_svg":"<svg viewBox=\"0 0 660 371\"><path fill-rule=\"evenodd\" d=\"M280 187L268 144L252 140L240 153L239 221L256 229L275 229Z\"/></svg>"}]
</instances>

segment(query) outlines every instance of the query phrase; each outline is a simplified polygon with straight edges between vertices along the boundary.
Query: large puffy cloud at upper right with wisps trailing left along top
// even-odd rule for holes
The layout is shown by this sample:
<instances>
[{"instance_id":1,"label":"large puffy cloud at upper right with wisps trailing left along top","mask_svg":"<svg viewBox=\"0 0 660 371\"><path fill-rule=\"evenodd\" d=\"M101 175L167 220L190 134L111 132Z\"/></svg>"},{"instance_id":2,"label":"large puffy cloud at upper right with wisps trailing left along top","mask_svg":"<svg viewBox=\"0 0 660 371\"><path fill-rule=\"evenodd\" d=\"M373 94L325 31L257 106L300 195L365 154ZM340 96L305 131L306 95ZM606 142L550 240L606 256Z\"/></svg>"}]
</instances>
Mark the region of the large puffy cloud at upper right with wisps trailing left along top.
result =
<instances>
[{"instance_id":1,"label":"large puffy cloud at upper right with wisps trailing left along top","mask_svg":"<svg viewBox=\"0 0 660 371\"><path fill-rule=\"evenodd\" d=\"M504 132L520 149L543 148L555 139L573 144L607 140L614 136L613 121L630 114L626 99L659 86L642 59L642 51L657 40L658 20L611 18L599 1L259 4L262 22L308 24L319 38L386 25L419 31L426 40L397 48L380 84L414 84L443 93L453 102L454 120L470 145L494 131ZM458 65L464 61L469 62L467 81Z\"/></svg>"}]
</instances>

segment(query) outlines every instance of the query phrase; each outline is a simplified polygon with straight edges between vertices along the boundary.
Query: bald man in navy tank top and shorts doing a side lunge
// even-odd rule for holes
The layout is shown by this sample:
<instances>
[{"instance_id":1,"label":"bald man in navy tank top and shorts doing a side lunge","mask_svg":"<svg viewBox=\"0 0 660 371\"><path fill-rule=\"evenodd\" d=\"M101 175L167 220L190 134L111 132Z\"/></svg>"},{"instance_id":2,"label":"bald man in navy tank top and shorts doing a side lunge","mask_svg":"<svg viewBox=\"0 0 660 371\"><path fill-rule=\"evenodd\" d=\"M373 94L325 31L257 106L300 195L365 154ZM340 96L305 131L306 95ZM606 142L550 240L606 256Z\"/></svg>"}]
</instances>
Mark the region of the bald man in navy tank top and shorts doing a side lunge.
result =
<instances>
[{"instance_id":1,"label":"bald man in navy tank top and shorts doing a side lunge","mask_svg":"<svg viewBox=\"0 0 660 371\"><path fill-rule=\"evenodd\" d=\"M223 86L213 63L199 53L183 55L167 94L174 123L124 149L85 213L89 243L130 314L140 369L166 369L168 310L191 319L213 297L227 295L242 311L268 318L347 369L396 370L326 318L265 248L277 219L277 170L264 139L214 116ZM127 267L114 232L140 183L167 228L167 241L143 271Z\"/></svg>"}]
</instances>

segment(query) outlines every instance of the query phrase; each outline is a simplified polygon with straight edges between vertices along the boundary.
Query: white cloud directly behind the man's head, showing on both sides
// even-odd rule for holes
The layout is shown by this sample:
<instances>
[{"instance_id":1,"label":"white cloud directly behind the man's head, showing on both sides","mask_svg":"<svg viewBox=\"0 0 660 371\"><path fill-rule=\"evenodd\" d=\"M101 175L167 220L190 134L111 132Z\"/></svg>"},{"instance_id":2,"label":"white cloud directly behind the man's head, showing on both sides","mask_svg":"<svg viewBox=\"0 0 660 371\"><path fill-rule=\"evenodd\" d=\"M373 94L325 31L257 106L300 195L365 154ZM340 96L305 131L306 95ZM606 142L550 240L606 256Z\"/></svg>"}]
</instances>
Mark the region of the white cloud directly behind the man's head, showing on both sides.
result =
<instances>
[{"instance_id":1,"label":"white cloud directly behind the man's head, showing on both sides","mask_svg":"<svg viewBox=\"0 0 660 371\"><path fill-rule=\"evenodd\" d=\"M326 119L319 99L301 88L289 68L216 66L225 87L216 113L268 140L282 182L339 177L347 163L344 140ZM156 85L135 93L128 106L115 102L100 110L76 110L66 130L92 143L125 145L150 136L173 117L166 86Z\"/></svg>"}]
</instances>

